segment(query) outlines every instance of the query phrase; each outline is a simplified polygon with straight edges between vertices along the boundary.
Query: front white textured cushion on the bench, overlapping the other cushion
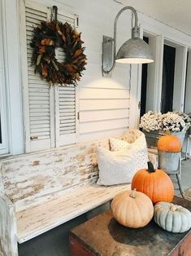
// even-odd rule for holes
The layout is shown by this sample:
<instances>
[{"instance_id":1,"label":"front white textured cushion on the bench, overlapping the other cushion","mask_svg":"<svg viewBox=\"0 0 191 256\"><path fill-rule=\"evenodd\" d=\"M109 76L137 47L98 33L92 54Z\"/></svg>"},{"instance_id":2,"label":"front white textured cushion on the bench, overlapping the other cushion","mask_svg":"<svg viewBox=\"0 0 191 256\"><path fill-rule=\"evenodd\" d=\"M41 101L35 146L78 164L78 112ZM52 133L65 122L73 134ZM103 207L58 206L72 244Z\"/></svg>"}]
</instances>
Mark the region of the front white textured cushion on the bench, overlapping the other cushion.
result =
<instances>
[{"instance_id":1,"label":"front white textured cushion on the bench, overlapping the other cushion","mask_svg":"<svg viewBox=\"0 0 191 256\"><path fill-rule=\"evenodd\" d=\"M99 185L115 185L131 183L136 169L133 151L111 152L106 148L98 147Z\"/></svg>"}]
</instances>

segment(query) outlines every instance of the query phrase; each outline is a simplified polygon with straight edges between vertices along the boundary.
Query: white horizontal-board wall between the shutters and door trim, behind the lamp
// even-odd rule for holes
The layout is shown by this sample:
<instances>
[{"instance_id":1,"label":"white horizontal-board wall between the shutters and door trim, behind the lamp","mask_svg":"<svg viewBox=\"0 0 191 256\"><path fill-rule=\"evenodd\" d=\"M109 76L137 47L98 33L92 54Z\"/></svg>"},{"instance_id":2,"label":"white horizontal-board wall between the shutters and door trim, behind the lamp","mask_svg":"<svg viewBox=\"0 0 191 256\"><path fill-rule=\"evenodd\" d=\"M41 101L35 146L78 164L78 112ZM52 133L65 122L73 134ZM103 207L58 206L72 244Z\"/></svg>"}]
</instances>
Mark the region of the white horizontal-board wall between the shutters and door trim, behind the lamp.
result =
<instances>
[{"instance_id":1,"label":"white horizontal-board wall between the shutters and door trim, behind the lamp","mask_svg":"<svg viewBox=\"0 0 191 256\"><path fill-rule=\"evenodd\" d=\"M72 1L76 2L76 1ZM80 26L85 41L88 65L79 84L79 140L115 136L128 129L129 65L116 65L112 77L102 77L102 36L113 37L115 15L120 5L111 1L82 1ZM130 38L131 13L121 15L118 45ZM126 23L124 30L123 24ZM122 29L123 27L123 29Z\"/></svg>"}]
</instances>

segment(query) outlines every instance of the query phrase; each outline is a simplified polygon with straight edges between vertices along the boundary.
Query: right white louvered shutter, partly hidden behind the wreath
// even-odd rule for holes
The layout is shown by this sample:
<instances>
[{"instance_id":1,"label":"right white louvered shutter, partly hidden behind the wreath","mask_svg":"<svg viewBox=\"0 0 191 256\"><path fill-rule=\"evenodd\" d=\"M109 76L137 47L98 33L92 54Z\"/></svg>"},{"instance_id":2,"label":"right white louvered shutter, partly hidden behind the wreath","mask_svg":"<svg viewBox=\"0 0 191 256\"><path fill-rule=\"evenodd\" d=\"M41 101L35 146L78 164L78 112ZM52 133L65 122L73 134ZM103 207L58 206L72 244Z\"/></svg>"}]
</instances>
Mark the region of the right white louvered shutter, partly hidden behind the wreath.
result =
<instances>
[{"instance_id":1,"label":"right white louvered shutter, partly hidden behind the wreath","mask_svg":"<svg viewBox=\"0 0 191 256\"><path fill-rule=\"evenodd\" d=\"M72 27L76 26L76 16L62 15L58 13L58 20ZM57 58L64 60L64 52L57 50ZM55 93L56 103L56 146L76 143L77 138L77 88L76 86L58 86Z\"/></svg>"}]
</instances>

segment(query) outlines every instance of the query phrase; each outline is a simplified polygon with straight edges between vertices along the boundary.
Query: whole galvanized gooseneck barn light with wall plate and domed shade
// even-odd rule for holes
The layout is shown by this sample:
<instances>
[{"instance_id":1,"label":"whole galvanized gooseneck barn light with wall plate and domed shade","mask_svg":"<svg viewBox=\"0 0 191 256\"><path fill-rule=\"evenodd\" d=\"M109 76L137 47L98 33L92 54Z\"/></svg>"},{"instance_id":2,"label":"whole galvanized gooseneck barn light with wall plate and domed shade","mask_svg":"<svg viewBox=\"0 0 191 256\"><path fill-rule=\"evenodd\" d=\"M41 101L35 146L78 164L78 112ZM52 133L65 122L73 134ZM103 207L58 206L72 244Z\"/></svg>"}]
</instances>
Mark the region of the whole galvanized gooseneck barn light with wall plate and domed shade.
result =
<instances>
[{"instance_id":1,"label":"whole galvanized gooseneck barn light with wall plate and domed shade","mask_svg":"<svg viewBox=\"0 0 191 256\"><path fill-rule=\"evenodd\" d=\"M135 26L132 28L132 38L119 48L116 54L116 26L119 15L131 10L135 16ZM150 52L150 46L140 38L140 28L137 25L137 11L133 7L124 7L115 17L114 38L103 36L102 43L102 74L109 76L115 66L115 62L124 64L144 64L154 61Z\"/></svg>"}]
</instances>

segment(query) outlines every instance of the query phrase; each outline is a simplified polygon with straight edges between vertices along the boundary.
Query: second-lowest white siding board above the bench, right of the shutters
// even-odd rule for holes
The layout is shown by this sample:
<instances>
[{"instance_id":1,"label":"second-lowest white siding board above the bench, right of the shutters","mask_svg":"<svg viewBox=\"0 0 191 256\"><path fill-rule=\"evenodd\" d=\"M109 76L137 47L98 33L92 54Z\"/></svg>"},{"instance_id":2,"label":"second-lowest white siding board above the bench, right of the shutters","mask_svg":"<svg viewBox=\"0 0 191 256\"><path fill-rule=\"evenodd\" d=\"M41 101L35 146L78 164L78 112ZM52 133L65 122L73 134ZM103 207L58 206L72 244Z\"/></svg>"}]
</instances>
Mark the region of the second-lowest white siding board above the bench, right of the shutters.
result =
<instances>
[{"instance_id":1,"label":"second-lowest white siding board above the bench, right of the shutters","mask_svg":"<svg viewBox=\"0 0 191 256\"><path fill-rule=\"evenodd\" d=\"M90 121L80 123L80 134L89 132L96 132L100 130L120 129L123 127L128 128L128 119L121 118L115 120L103 120L103 121Z\"/></svg>"}]
</instances>

